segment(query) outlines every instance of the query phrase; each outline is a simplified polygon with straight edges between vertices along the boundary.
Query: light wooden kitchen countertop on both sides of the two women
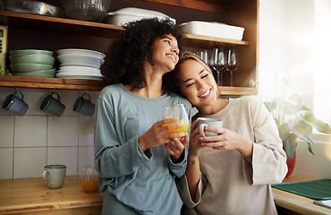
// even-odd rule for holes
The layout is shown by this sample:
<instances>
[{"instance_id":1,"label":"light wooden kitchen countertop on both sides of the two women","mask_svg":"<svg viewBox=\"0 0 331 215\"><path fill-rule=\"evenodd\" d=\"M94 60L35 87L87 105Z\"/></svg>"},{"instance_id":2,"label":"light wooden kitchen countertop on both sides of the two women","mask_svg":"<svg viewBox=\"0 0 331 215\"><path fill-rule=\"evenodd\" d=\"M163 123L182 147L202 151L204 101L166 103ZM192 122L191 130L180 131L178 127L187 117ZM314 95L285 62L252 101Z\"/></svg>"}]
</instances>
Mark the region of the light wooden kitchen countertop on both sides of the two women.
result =
<instances>
[{"instance_id":1,"label":"light wooden kitchen countertop on both sides of the two women","mask_svg":"<svg viewBox=\"0 0 331 215\"><path fill-rule=\"evenodd\" d=\"M66 176L60 189L49 189L42 177L0 180L0 214L100 214L102 193L85 193L80 176ZM284 182L316 178L293 174ZM278 209L287 214L330 215L331 209L314 200L273 188Z\"/></svg>"}]
</instances>

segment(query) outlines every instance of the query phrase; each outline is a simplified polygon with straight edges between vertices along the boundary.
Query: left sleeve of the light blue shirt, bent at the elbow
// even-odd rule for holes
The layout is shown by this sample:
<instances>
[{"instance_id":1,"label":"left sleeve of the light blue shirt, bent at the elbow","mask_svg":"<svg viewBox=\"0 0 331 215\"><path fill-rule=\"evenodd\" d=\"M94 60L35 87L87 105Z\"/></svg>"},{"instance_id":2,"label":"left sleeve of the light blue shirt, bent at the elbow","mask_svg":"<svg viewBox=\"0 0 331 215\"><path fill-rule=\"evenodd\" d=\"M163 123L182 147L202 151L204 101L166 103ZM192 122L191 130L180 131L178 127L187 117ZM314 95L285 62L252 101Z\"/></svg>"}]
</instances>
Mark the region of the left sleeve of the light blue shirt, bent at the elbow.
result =
<instances>
[{"instance_id":1,"label":"left sleeve of the light blue shirt, bent at the elbow","mask_svg":"<svg viewBox=\"0 0 331 215\"><path fill-rule=\"evenodd\" d=\"M98 99L95 125L95 166L99 176L115 178L132 174L151 158L140 149L138 138L124 142L115 129L115 115L105 100Z\"/></svg>"}]
</instances>

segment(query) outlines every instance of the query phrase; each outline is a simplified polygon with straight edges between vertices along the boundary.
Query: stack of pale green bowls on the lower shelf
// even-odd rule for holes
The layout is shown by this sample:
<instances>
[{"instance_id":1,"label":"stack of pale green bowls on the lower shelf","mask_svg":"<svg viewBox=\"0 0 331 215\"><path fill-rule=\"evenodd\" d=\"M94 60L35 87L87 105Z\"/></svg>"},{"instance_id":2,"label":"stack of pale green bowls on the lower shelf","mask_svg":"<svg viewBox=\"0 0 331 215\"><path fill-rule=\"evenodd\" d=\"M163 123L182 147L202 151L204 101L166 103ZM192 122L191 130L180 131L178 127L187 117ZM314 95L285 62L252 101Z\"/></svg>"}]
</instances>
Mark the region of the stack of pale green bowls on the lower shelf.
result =
<instances>
[{"instance_id":1,"label":"stack of pale green bowls on the lower shelf","mask_svg":"<svg viewBox=\"0 0 331 215\"><path fill-rule=\"evenodd\" d=\"M9 51L13 75L54 78L55 68L52 51L21 49Z\"/></svg>"}]
</instances>

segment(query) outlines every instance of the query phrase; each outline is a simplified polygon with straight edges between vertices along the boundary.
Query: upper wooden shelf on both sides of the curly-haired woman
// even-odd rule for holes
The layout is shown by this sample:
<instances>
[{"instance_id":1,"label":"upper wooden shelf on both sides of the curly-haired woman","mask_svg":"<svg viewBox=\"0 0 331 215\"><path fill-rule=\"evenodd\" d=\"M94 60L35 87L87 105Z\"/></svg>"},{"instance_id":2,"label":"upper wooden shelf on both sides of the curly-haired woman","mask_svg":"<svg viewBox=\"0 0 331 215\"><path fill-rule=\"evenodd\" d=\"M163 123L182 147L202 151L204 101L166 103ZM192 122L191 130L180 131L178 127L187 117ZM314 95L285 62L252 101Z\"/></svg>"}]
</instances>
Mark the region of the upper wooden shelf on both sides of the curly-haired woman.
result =
<instances>
[{"instance_id":1,"label":"upper wooden shelf on both sides of the curly-haired woman","mask_svg":"<svg viewBox=\"0 0 331 215\"><path fill-rule=\"evenodd\" d=\"M115 38L123 32L118 25L111 25L99 22L85 22L57 17L35 15L29 13L16 13L0 11L0 24L14 28L29 28L35 30L52 30L56 32L80 34ZM247 41L234 39L219 39L199 35L186 34L186 43L194 47L213 47L217 44L249 45Z\"/></svg>"}]
</instances>

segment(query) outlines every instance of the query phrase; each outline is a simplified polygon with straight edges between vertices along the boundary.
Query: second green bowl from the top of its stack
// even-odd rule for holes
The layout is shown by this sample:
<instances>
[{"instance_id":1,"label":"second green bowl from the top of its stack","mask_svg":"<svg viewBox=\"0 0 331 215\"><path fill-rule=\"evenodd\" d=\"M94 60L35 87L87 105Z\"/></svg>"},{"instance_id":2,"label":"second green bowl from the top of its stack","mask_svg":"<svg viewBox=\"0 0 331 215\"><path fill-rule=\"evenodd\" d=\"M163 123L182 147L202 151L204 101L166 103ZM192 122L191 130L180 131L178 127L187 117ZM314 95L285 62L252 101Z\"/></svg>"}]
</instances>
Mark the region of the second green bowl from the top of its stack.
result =
<instances>
[{"instance_id":1,"label":"second green bowl from the top of its stack","mask_svg":"<svg viewBox=\"0 0 331 215\"><path fill-rule=\"evenodd\" d=\"M11 59L12 64L49 64L54 65L55 58L44 54L30 54Z\"/></svg>"}]
</instances>

